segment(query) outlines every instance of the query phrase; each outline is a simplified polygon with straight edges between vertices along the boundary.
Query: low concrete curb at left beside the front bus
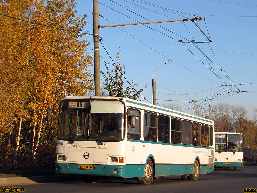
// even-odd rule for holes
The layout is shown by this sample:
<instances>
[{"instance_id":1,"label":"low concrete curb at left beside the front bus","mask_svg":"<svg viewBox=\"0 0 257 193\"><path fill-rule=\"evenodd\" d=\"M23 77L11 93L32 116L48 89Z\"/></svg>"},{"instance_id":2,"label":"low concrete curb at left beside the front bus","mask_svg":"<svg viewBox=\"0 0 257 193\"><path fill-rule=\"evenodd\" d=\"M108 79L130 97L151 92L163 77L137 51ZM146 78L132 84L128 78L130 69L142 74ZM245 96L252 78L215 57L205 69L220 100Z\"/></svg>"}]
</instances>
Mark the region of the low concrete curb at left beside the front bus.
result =
<instances>
[{"instance_id":1,"label":"low concrete curb at left beside the front bus","mask_svg":"<svg viewBox=\"0 0 257 193\"><path fill-rule=\"evenodd\" d=\"M56 176L11 177L11 178L0 178L0 186L31 184L31 183L60 182L60 181L76 181L76 180L83 180L82 176L79 176L79 175L56 175Z\"/></svg>"}]
</instances>

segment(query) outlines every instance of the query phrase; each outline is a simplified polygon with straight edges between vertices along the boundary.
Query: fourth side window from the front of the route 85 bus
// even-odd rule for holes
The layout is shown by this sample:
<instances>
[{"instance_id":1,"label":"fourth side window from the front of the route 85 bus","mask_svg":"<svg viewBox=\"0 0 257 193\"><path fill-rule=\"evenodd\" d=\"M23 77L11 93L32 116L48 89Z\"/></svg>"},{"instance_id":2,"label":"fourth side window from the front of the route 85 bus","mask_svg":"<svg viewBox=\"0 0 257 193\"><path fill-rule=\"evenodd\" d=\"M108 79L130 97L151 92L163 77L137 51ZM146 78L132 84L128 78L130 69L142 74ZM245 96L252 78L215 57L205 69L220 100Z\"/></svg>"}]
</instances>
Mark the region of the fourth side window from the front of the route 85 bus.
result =
<instances>
[{"instance_id":1,"label":"fourth side window from the front of the route 85 bus","mask_svg":"<svg viewBox=\"0 0 257 193\"><path fill-rule=\"evenodd\" d=\"M171 143L181 144L181 120L171 118Z\"/></svg>"}]
</instances>

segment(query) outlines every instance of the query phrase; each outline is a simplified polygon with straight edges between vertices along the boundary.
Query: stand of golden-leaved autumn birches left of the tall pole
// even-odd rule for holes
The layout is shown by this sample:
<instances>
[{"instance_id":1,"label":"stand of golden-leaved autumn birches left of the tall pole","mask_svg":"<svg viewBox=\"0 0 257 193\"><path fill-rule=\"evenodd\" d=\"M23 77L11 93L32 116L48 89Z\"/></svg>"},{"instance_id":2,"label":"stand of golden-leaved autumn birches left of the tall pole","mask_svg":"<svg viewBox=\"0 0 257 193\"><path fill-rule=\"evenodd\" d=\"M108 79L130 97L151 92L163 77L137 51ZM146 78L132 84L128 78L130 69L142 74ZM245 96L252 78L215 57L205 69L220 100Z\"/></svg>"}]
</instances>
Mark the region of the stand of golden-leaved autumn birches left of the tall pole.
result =
<instances>
[{"instance_id":1,"label":"stand of golden-leaved autumn birches left of the tall pole","mask_svg":"<svg viewBox=\"0 0 257 193\"><path fill-rule=\"evenodd\" d=\"M51 106L46 123L48 104L93 90L86 15L76 16L75 5L73 0L0 0L3 165L53 164L58 105Z\"/></svg>"}]
</instances>

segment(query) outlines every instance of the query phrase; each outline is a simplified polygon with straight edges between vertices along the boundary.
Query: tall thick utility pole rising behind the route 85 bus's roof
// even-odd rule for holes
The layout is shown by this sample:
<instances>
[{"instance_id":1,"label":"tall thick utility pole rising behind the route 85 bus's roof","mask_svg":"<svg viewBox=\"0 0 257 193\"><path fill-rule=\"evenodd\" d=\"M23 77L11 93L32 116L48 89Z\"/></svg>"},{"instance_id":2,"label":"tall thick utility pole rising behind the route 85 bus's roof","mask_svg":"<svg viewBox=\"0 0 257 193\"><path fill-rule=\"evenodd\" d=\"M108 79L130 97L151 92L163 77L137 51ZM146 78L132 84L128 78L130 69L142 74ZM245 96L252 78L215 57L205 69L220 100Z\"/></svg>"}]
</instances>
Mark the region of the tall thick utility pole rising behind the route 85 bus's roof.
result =
<instances>
[{"instance_id":1,"label":"tall thick utility pole rising behind the route 85 bus's roof","mask_svg":"<svg viewBox=\"0 0 257 193\"><path fill-rule=\"evenodd\" d=\"M98 0L93 0L93 33L94 33L94 74L95 96L101 96L100 92L100 53L99 53L99 13Z\"/></svg>"}]
</instances>

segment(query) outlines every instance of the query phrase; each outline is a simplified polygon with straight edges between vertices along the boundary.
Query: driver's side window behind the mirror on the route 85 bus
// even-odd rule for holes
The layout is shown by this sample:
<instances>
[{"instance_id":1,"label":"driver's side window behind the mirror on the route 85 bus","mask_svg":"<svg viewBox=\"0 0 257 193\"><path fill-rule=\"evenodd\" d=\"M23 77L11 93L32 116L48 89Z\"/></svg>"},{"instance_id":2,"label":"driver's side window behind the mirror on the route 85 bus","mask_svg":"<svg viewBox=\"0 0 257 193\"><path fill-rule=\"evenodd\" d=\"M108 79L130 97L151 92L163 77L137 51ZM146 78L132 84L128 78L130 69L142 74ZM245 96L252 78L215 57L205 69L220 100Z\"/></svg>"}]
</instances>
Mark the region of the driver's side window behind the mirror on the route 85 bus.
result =
<instances>
[{"instance_id":1,"label":"driver's side window behind the mirror on the route 85 bus","mask_svg":"<svg viewBox=\"0 0 257 193\"><path fill-rule=\"evenodd\" d=\"M136 116L136 127L131 127L131 111L132 115ZM135 109L128 108L128 117L127 117L127 137L129 139L140 139L140 111Z\"/></svg>"}]
</instances>

